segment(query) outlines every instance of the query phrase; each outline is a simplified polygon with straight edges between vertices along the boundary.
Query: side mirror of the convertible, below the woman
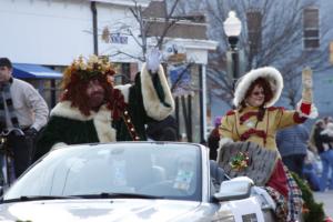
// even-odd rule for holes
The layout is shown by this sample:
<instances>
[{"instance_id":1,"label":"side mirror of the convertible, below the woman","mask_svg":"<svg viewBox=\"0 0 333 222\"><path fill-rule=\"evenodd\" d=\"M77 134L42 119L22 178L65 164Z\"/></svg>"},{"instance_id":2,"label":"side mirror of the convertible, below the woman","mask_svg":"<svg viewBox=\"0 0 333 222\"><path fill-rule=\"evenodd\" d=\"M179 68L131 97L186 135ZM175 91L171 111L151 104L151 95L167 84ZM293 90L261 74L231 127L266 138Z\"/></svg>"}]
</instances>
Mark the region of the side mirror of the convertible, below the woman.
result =
<instances>
[{"instance_id":1,"label":"side mirror of the convertible, below the woman","mask_svg":"<svg viewBox=\"0 0 333 222\"><path fill-rule=\"evenodd\" d=\"M218 201L231 201L249 198L253 181L248 176L239 176L223 181L220 191L214 194Z\"/></svg>"}]
</instances>

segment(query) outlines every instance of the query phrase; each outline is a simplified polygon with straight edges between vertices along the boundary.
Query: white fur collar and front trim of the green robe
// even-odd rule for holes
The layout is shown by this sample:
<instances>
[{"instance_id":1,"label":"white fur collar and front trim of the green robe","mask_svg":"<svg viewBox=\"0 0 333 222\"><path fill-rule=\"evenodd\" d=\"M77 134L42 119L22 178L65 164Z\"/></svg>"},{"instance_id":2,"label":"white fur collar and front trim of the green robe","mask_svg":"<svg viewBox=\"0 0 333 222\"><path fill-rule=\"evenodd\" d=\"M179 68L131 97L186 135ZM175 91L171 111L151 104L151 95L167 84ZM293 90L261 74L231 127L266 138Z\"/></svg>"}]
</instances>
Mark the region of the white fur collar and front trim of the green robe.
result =
<instances>
[{"instance_id":1,"label":"white fur collar and front trim of the green robe","mask_svg":"<svg viewBox=\"0 0 333 222\"><path fill-rule=\"evenodd\" d=\"M115 141L117 131L111 127L112 118L111 110L105 105L102 105L98 112L91 112L90 115L84 115L78 108L71 107L71 102L59 102L51 111L51 115L58 115L62 118L89 121L93 120L93 124L100 142L113 142ZM69 125L70 127L70 125Z\"/></svg>"}]
</instances>

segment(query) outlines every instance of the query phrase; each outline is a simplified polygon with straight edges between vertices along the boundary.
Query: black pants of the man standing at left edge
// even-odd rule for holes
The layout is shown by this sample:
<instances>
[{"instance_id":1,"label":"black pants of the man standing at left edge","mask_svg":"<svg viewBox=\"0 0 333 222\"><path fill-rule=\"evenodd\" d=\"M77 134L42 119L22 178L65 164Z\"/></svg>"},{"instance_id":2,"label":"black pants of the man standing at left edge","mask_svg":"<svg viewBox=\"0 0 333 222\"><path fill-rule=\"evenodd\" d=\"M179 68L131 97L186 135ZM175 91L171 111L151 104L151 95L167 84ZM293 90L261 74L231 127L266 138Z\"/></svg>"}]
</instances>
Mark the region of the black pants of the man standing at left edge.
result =
<instances>
[{"instance_id":1,"label":"black pants of the man standing at left edge","mask_svg":"<svg viewBox=\"0 0 333 222\"><path fill-rule=\"evenodd\" d=\"M19 178L29 168L31 163L33 139L24 135L16 135L14 133L10 133L8 142L9 148L12 149L16 178Z\"/></svg>"}]
</instances>

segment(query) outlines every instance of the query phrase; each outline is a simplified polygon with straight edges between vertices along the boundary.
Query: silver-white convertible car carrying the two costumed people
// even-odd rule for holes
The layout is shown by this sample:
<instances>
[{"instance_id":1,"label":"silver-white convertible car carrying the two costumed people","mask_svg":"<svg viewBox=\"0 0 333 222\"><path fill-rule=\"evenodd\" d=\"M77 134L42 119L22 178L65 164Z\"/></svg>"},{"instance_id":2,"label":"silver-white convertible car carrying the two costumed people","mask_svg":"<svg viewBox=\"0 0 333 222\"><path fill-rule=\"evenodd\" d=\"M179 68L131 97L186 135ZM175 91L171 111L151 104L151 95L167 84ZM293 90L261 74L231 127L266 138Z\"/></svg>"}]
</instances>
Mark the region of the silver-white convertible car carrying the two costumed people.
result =
<instances>
[{"instance_id":1,"label":"silver-white convertible car carrying the two costumed people","mask_svg":"<svg viewBox=\"0 0 333 222\"><path fill-rule=\"evenodd\" d=\"M274 221L249 178L228 179L193 143L69 145L34 163L1 198L0 221Z\"/></svg>"}]
</instances>

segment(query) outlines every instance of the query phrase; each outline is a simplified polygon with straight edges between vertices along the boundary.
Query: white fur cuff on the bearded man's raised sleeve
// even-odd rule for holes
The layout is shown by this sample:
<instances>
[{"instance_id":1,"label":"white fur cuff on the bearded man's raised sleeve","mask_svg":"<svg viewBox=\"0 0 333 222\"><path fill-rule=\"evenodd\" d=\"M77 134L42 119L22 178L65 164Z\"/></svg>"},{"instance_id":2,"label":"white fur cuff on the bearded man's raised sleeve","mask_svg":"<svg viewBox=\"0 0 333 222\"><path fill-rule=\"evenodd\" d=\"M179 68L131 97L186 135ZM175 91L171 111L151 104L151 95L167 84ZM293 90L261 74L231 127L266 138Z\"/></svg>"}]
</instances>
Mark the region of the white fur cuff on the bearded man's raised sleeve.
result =
<instances>
[{"instance_id":1,"label":"white fur cuff on the bearded man's raised sleeve","mask_svg":"<svg viewBox=\"0 0 333 222\"><path fill-rule=\"evenodd\" d=\"M165 94L164 101L171 107L168 108L160 102L158 93L152 83L151 75L145 68L145 63L143 64L141 70L142 98L147 114L155 120L163 120L173 111L174 101L168 81L165 79L162 65L160 65L158 74Z\"/></svg>"}]
</instances>

